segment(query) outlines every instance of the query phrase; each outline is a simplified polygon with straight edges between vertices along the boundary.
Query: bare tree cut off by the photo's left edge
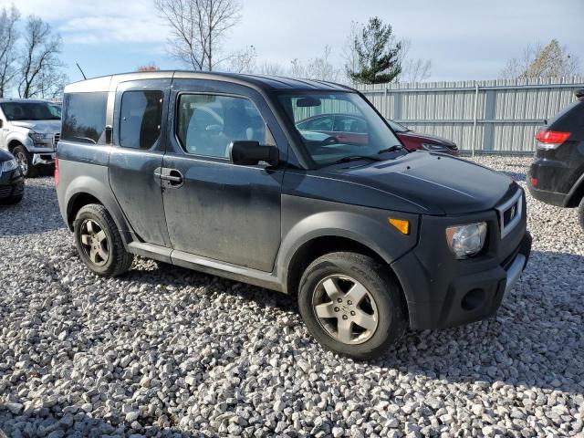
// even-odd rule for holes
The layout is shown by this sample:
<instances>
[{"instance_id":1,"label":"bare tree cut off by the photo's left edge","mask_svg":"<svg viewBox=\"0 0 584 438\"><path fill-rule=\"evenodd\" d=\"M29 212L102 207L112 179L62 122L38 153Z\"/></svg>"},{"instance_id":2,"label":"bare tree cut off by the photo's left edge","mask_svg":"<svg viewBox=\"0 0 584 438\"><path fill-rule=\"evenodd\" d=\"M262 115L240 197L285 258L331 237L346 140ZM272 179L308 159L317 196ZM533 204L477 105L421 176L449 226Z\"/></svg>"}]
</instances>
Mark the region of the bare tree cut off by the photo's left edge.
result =
<instances>
[{"instance_id":1,"label":"bare tree cut off by the photo's left edge","mask_svg":"<svg viewBox=\"0 0 584 438\"><path fill-rule=\"evenodd\" d=\"M0 98L4 98L16 78L16 22L20 13L15 5L0 14Z\"/></svg>"}]
</instances>

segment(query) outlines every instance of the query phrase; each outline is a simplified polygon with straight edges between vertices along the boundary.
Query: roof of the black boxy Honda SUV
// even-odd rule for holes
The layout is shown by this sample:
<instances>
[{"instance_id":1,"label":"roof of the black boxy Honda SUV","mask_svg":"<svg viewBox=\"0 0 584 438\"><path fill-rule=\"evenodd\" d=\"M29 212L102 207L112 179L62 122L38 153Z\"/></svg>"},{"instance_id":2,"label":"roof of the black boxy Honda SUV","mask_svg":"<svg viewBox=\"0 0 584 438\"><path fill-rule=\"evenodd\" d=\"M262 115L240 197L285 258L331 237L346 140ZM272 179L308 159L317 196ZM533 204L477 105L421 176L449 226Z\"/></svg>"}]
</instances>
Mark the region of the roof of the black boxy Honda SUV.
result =
<instances>
[{"instance_id":1,"label":"roof of the black boxy Honda SUV","mask_svg":"<svg viewBox=\"0 0 584 438\"><path fill-rule=\"evenodd\" d=\"M186 70L161 70L122 73L99 78L90 78L69 84L65 92L76 91L109 91L115 89L117 84L129 80L149 78L193 78L220 80L251 86L256 89L302 89L325 91L352 91L353 89L323 80L284 78L279 76L246 75L239 73L219 73L214 71L186 71Z\"/></svg>"}]
</instances>

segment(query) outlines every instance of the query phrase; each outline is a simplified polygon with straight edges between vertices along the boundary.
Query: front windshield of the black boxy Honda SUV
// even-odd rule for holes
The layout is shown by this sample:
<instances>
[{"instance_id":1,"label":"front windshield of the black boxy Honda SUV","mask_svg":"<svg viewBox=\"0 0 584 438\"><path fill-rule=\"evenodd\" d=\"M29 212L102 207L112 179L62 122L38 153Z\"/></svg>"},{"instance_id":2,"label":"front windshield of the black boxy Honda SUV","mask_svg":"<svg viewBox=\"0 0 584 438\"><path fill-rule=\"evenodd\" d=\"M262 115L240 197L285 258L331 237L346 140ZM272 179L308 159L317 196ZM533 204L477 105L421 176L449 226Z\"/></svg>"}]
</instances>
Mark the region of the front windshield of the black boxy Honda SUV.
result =
<instances>
[{"instance_id":1,"label":"front windshield of the black boxy Honda SUV","mask_svg":"<svg viewBox=\"0 0 584 438\"><path fill-rule=\"evenodd\" d=\"M381 154L401 150L384 120L357 93L284 93L278 100L319 166L360 158L381 160Z\"/></svg>"}]
</instances>

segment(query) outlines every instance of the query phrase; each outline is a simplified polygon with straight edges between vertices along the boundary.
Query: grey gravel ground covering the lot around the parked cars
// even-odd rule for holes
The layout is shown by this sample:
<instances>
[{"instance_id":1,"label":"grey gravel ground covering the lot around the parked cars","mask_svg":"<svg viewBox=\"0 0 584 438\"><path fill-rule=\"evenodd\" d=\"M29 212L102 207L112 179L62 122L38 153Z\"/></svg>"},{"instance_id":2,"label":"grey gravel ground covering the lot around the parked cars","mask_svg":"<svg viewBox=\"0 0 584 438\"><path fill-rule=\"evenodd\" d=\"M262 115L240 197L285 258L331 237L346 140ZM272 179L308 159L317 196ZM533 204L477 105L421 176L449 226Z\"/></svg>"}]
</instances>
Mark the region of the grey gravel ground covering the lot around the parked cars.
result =
<instances>
[{"instance_id":1,"label":"grey gravel ground covering the lot around the parked cars","mask_svg":"<svg viewBox=\"0 0 584 438\"><path fill-rule=\"evenodd\" d=\"M522 183L530 158L484 157ZM496 318L408 332L370 363L294 300L137 259L78 260L50 178L0 210L0 427L48 436L582 436L584 235L527 196L532 259ZM0 433L1 435L1 433Z\"/></svg>"}]
</instances>

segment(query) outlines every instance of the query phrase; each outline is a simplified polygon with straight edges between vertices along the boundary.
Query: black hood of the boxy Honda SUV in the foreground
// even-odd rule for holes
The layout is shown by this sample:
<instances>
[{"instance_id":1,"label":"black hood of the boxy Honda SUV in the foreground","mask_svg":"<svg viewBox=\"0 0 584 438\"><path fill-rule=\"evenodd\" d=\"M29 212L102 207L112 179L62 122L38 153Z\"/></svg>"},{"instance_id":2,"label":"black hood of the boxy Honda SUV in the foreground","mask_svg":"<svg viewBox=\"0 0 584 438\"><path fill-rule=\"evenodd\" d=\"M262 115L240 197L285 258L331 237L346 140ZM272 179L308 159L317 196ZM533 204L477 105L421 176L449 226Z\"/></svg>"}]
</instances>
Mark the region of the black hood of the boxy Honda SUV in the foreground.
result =
<instances>
[{"instance_id":1,"label":"black hood of the boxy Honda SUV in the foreground","mask_svg":"<svg viewBox=\"0 0 584 438\"><path fill-rule=\"evenodd\" d=\"M426 151L365 166L351 162L327 173L337 181L367 186L370 190L362 191L360 204L421 214L490 210L517 187L503 173Z\"/></svg>"}]
</instances>

